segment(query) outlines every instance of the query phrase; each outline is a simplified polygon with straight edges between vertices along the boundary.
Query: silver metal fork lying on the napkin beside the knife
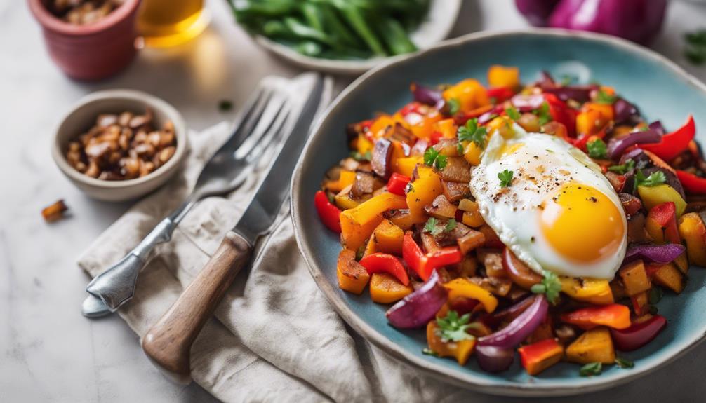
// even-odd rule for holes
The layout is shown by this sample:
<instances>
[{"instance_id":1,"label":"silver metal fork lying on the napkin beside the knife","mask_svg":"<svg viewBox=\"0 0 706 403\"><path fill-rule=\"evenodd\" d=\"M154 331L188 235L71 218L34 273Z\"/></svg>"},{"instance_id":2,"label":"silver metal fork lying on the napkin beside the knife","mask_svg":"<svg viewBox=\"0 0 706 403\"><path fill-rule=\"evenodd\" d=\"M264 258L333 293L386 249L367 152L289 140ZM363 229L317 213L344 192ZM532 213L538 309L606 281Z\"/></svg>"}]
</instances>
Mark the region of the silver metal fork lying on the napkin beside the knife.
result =
<instances>
[{"instance_id":1,"label":"silver metal fork lying on the napkin beside the knife","mask_svg":"<svg viewBox=\"0 0 706 403\"><path fill-rule=\"evenodd\" d=\"M157 244L168 242L174 228L200 200L232 192L253 171L254 163L268 149L276 147L290 104L277 79L265 79L249 99L229 139L216 151L196 180L189 197L107 271L86 287L89 293L82 312L88 318L111 314L133 296L138 273Z\"/></svg>"}]
</instances>

